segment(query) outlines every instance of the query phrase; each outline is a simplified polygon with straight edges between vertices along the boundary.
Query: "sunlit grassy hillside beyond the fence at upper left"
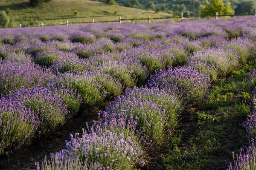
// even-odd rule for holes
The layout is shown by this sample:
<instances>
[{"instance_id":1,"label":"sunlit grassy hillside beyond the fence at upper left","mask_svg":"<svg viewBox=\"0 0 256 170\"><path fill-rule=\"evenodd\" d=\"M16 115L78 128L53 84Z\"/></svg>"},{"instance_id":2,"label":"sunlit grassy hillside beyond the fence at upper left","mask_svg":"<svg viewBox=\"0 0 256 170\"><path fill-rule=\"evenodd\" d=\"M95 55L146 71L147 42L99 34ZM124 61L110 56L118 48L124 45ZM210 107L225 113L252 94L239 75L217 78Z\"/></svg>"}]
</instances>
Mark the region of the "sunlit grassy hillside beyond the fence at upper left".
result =
<instances>
[{"instance_id":1,"label":"sunlit grassy hillside beyond the fence at upper left","mask_svg":"<svg viewBox=\"0 0 256 170\"><path fill-rule=\"evenodd\" d=\"M9 16L15 18L17 23L27 23L31 19L43 21L75 18L75 10L80 13L77 17L119 16L141 11L88 0L52 0L35 8L29 6L29 0L0 0L0 10L6 8L10 8Z\"/></svg>"}]
</instances>

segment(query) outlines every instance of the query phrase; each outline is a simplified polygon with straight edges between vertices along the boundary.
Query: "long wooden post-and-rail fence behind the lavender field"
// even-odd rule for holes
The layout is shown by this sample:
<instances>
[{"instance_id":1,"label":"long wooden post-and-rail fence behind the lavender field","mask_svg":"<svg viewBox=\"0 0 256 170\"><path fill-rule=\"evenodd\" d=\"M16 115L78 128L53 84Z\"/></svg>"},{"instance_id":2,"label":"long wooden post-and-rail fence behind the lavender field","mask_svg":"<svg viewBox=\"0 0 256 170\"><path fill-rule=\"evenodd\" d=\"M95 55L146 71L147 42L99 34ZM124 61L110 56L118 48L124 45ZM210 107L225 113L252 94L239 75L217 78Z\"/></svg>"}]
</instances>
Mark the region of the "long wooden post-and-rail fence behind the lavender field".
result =
<instances>
[{"instance_id":1,"label":"long wooden post-and-rail fence behind the lavender field","mask_svg":"<svg viewBox=\"0 0 256 170\"><path fill-rule=\"evenodd\" d=\"M184 17L215 17L215 19L218 19L218 17L238 17L238 16L253 16L256 17L256 9L254 11L254 14L232 14L232 15L218 15L218 12L216 12L215 15L183 15L183 13L181 13L180 16L178 17L155 17L155 18L151 18L150 16L148 18L125 18L122 19L122 17L119 17L119 20L113 20L113 21L98 21L97 23L122 23L122 21L134 21L134 20L148 20L148 23L151 23L151 20L163 20L163 19L179 19L182 21L184 19ZM94 21L94 19L92 19L91 22L79 22L79 23L75 23L75 22L69 22L67 20L66 23L64 24L52 24L52 25L44 25L44 23L42 23L40 26L55 26L55 25L69 25L69 24L81 24L81 23L96 23ZM20 27L22 27L22 24L20 24Z\"/></svg>"}]
</instances>

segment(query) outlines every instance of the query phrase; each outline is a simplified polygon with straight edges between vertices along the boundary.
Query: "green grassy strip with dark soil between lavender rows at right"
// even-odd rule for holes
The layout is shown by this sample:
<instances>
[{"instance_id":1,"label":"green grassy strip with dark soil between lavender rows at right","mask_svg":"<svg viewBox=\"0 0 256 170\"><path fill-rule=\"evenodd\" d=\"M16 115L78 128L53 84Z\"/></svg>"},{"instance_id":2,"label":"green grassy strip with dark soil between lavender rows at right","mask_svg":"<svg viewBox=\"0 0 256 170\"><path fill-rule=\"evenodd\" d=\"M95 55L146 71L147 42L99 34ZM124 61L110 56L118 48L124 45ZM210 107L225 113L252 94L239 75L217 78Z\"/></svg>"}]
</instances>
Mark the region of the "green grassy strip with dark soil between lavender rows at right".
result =
<instances>
[{"instance_id":1,"label":"green grassy strip with dark soil between lavender rows at right","mask_svg":"<svg viewBox=\"0 0 256 170\"><path fill-rule=\"evenodd\" d=\"M190 111L189 122L176 133L181 134L179 140L169 142L169 153L162 158L167 170L226 169L233 160L231 153L247 146L241 124L251 109L246 74L255 66L245 65L219 80L209 101Z\"/></svg>"}]
</instances>

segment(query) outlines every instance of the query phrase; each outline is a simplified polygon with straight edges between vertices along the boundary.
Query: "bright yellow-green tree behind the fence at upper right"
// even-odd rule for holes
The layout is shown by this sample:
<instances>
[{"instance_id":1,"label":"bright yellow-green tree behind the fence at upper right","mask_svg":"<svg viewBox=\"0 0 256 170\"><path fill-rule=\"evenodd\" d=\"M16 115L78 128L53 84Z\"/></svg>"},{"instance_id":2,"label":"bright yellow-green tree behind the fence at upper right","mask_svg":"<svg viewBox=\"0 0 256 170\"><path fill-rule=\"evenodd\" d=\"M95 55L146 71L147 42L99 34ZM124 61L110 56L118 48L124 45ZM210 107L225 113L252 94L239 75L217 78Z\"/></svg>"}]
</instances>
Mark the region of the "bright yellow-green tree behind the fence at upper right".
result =
<instances>
[{"instance_id":1,"label":"bright yellow-green tree behind the fence at upper right","mask_svg":"<svg viewBox=\"0 0 256 170\"><path fill-rule=\"evenodd\" d=\"M231 7L231 4L227 3L224 5L223 0L206 0L205 5L200 5L200 7L201 15L215 15L216 12L218 12L218 15L235 13L235 11Z\"/></svg>"}]
</instances>

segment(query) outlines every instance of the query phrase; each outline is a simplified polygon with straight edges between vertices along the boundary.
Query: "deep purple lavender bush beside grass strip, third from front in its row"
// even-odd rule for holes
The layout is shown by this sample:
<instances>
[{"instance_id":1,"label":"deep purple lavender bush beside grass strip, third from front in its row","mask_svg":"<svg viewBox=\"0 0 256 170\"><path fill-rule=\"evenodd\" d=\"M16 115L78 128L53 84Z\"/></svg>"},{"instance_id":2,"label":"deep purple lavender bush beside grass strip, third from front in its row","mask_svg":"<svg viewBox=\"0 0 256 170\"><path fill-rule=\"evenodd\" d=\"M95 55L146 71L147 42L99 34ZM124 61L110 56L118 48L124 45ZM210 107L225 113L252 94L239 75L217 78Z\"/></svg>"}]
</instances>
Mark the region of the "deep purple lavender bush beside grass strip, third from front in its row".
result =
<instances>
[{"instance_id":1,"label":"deep purple lavender bush beside grass strip, third from front in its row","mask_svg":"<svg viewBox=\"0 0 256 170\"><path fill-rule=\"evenodd\" d=\"M204 102L211 86L210 78L197 70L186 67L156 71L148 80L150 87L160 89L176 85L185 100L191 104Z\"/></svg>"}]
</instances>

